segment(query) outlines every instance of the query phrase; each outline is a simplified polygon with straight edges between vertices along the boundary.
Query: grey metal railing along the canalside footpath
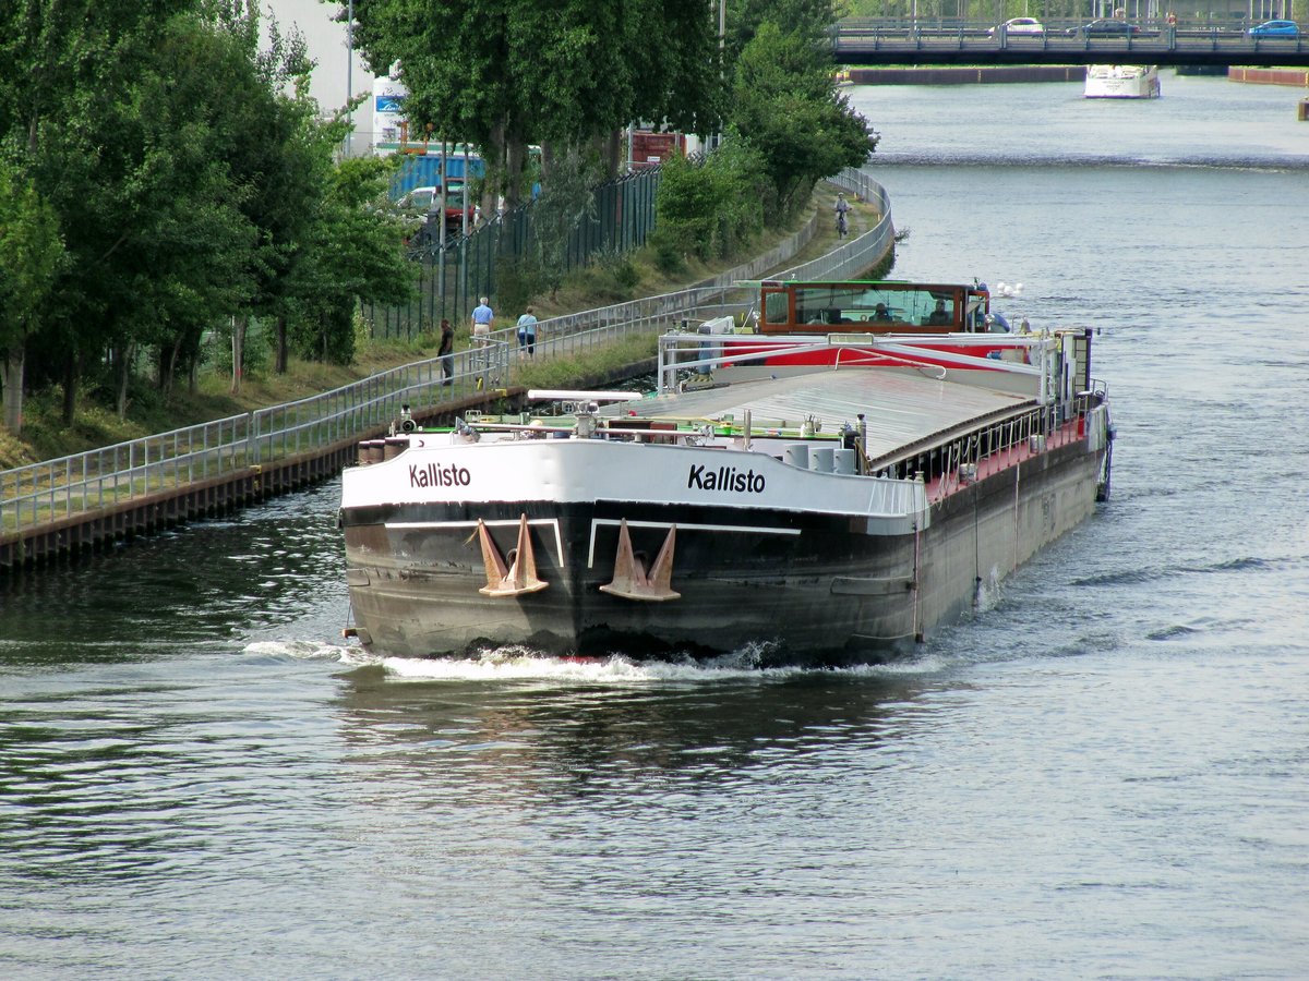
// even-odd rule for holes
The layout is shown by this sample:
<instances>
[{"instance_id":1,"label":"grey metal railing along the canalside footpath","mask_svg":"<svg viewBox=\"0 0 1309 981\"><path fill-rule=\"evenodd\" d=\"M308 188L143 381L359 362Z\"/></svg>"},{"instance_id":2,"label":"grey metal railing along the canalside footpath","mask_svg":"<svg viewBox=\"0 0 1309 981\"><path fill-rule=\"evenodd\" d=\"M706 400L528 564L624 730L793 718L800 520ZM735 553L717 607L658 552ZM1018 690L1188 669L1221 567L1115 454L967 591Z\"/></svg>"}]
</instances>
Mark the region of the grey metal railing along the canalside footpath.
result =
<instances>
[{"instance_id":1,"label":"grey metal railing along the canalside footpath","mask_svg":"<svg viewBox=\"0 0 1309 981\"><path fill-rule=\"evenodd\" d=\"M867 272L894 245L886 194L863 171L844 171L833 183L877 205L880 217L872 229L783 272L772 271L806 241L798 233L781 251L691 289L541 320L537 357L572 357L627 337L662 334L683 322L746 313L757 290L737 284L764 275L838 280ZM378 371L298 402L0 471L0 535L325 451L386 429L404 404L424 416L442 404L507 388L513 385L516 349L516 330L509 327L492 332L483 347Z\"/></svg>"}]
</instances>

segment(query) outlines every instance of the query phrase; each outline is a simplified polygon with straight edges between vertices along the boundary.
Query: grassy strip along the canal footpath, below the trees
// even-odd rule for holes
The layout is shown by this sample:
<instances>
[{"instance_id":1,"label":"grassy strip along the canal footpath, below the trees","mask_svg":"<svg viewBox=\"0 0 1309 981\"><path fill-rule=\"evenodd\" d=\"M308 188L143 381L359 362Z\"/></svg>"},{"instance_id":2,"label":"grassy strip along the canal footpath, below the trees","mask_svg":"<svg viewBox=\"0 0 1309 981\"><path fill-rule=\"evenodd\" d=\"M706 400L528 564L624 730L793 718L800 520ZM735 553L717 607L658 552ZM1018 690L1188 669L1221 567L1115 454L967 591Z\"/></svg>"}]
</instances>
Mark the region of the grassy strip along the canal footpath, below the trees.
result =
<instances>
[{"instance_id":1,"label":"grassy strip along the canal footpath, below the trees","mask_svg":"<svg viewBox=\"0 0 1309 981\"><path fill-rule=\"evenodd\" d=\"M813 208L823 218L831 215L834 196L834 192L826 186L814 195ZM868 208L868 205L856 207ZM868 213L873 213L872 208L868 208ZM804 218L808 218L808 213ZM796 226L798 224L797 221ZM729 256L712 266L687 262L686 268L675 276L660 272L654 266L653 255L648 250L639 250L631 256L635 285L624 286L619 281L622 277L632 283L631 271L624 271L620 275L617 269L596 266L571 276L555 297L535 302L537 317L547 319L565 313L682 289L738 266L753 255L767 251L793 230L795 228L781 229L768 234L750 243L742 254ZM788 266L829 251L834 241L835 233L831 222L819 221L814 241ZM497 319L500 323L512 323L518 313L521 311L500 311ZM457 348L467 347L469 326L456 324L456 327L458 330ZM185 381L179 381L178 388L165 396L141 381L132 388L123 419L119 419L113 408L89 395L79 402L73 424L64 425L63 392L58 388L38 392L25 403L21 438L0 426L0 470L67 456L98 446L109 446L267 405L295 402L350 385L387 368L435 357L439 340L437 336L429 335L416 337L412 341L378 341L361 334L356 343L356 357L351 365L327 365L293 358L289 370L281 375L274 374L271 369L255 366L246 371L238 394L230 391L230 374L212 365L202 369L194 392L187 390ZM588 377L611 374L624 358L627 364L632 364L651 357L653 351L653 340L649 340L644 345L635 344L631 348L620 347L596 352L576 360L542 361L526 366L520 374L522 383L533 387L569 387Z\"/></svg>"}]
</instances>

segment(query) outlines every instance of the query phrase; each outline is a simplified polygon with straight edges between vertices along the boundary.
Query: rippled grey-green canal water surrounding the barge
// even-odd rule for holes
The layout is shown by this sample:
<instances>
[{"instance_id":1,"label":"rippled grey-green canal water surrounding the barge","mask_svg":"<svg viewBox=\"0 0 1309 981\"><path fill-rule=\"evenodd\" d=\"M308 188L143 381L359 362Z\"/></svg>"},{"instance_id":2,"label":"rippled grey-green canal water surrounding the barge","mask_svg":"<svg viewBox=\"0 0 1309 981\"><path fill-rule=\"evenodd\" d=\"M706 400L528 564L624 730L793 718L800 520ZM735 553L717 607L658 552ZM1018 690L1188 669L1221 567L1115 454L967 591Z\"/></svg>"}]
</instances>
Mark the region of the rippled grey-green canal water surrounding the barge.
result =
<instances>
[{"instance_id":1,"label":"rippled grey-green canal water surrounding the barge","mask_svg":"<svg viewBox=\"0 0 1309 981\"><path fill-rule=\"evenodd\" d=\"M369 662L335 484L4 581L0 976L1309 974L1309 123L1162 85L850 90L1119 430L906 663Z\"/></svg>"}]
</instances>

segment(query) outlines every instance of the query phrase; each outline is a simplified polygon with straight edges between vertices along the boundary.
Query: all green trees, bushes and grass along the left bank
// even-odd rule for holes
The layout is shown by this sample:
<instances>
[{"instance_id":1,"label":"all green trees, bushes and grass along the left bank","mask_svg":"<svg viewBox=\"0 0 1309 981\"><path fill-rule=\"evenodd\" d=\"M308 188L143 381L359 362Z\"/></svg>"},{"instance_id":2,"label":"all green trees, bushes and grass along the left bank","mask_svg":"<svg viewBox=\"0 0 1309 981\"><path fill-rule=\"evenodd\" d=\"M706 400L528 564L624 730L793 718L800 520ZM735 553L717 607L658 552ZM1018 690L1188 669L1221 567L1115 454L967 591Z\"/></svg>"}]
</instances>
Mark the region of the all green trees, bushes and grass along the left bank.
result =
<instances>
[{"instance_id":1,"label":"all green trees, bushes and grass along the left bank","mask_svg":"<svg viewBox=\"0 0 1309 981\"><path fill-rule=\"evenodd\" d=\"M433 339L377 343L355 313L412 289L394 161L340 158L344 110L306 94L302 41L266 25L260 43L241 0L109 7L0 10L0 467L428 356ZM471 8L356 0L356 42L374 68L401 63L412 119L483 148L488 194L521 188L541 145L537 204L580 221L569 203L632 119L723 137L666 164L644 252L567 280L541 256L522 296L542 315L725 268L873 148L813 0L733 10L721 50L699 0Z\"/></svg>"}]
</instances>

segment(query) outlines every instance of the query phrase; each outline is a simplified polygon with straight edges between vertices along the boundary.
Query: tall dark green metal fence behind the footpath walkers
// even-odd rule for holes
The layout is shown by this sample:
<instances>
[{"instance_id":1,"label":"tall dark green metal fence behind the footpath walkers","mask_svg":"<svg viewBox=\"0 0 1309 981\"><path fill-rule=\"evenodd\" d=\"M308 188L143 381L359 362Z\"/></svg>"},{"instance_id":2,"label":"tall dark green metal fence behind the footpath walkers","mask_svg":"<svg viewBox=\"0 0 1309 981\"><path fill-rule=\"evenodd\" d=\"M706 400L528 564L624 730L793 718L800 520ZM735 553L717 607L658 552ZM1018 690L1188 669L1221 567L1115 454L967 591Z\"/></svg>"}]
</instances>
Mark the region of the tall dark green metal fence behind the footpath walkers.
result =
<instances>
[{"instance_id":1,"label":"tall dark green metal fence behind the footpath walkers","mask_svg":"<svg viewBox=\"0 0 1309 981\"><path fill-rule=\"evenodd\" d=\"M640 249L654 228L658 167L635 170L592 191L588 217L562 247L564 272L586 266L597 252ZM411 252L420 266L418 294L407 303L364 303L361 310L374 337L414 339L435 334L441 318L463 323L479 297L496 293L505 263L537 255L541 230L534 201L497 215L469 235L454 235Z\"/></svg>"}]
</instances>

